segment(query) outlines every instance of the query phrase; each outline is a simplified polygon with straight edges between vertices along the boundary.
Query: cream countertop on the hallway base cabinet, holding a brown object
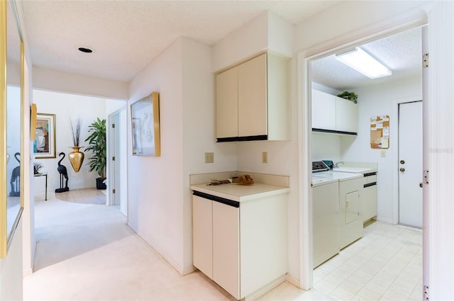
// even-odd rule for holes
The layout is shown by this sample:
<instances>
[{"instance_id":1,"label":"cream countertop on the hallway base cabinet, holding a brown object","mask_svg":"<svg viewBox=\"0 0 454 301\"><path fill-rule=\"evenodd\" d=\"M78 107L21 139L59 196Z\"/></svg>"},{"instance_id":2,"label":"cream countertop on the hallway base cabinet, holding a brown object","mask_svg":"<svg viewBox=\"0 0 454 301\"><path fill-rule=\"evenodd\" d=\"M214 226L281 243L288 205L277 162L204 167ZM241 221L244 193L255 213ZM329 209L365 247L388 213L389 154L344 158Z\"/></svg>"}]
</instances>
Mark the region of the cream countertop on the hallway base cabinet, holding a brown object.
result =
<instances>
[{"instance_id":1,"label":"cream countertop on the hallway base cabinet, holding a brown object","mask_svg":"<svg viewBox=\"0 0 454 301\"><path fill-rule=\"evenodd\" d=\"M201 193L216 195L220 198L227 198L228 200L236 200L237 202L264 198L270 195L288 193L290 191L289 187L263 183L254 183L250 186L243 186L235 183L207 186L206 183L203 183L192 185L191 189Z\"/></svg>"}]
</instances>

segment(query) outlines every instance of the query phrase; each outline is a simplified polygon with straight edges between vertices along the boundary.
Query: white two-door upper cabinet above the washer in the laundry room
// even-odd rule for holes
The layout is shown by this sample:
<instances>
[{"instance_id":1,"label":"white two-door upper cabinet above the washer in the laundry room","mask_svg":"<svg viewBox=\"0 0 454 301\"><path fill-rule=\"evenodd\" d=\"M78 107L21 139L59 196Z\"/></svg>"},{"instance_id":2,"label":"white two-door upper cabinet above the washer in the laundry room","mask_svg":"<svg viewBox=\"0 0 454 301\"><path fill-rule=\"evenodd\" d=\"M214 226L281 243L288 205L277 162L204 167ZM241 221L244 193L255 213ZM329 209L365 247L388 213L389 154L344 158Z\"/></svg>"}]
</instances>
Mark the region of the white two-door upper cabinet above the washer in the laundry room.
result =
<instances>
[{"instance_id":1,"label":"white two-door upper cabinet above the washer in the laundry room","mask_svg":"<svg viewBox=\"0 0 454 301\"><path fill-rule=\"evenodd\" d=\"M338 96L312 90L312 130L356 134L358 105Z\"/></svg>"}]
</instances>

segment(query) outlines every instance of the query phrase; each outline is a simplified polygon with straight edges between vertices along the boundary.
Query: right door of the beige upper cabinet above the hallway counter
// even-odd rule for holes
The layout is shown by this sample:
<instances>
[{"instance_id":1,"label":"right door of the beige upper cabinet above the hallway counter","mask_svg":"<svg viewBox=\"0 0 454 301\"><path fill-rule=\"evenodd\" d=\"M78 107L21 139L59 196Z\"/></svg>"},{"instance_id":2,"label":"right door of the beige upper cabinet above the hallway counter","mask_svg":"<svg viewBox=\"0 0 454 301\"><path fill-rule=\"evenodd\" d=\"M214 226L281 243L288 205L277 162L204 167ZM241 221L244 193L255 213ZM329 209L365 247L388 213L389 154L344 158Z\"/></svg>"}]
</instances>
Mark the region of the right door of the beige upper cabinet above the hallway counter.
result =
<instances>
[{"instance_id":1,"label":"right door of the beige upper cabinet above the hallway counter","mask_svg":"<svg viewBox=\"0 0 454 301\"><path fill-rule=\"evenodd\" d=\"M266 55L238 66L238 136L267 135Z\"/></svg>"}]
</instances>

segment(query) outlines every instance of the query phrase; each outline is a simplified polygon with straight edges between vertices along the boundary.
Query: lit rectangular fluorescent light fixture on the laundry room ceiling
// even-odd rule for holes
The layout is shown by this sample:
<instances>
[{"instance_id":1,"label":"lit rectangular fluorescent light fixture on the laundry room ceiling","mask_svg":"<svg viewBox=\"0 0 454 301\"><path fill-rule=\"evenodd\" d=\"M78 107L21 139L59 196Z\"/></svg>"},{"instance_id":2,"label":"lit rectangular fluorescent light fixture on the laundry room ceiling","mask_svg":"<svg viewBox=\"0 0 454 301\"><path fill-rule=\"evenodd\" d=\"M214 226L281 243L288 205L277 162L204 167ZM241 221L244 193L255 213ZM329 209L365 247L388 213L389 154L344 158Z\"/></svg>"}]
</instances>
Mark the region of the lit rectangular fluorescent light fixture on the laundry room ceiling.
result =
<instances>
[{"instance_id":1,"label":"lit rectangular fluorescent light fixture on the laundry room ceiling","mask_svg":"<svg viewBox=\"0 0 454 301\"><path fill-rule=\"evenodd\" d=\"M370 79L378 79L392 74L387 67L384 67L382 63L371 57L360 47L355 47L354 50L336 55L336 59Z\"/></svg>"}]
</instances>

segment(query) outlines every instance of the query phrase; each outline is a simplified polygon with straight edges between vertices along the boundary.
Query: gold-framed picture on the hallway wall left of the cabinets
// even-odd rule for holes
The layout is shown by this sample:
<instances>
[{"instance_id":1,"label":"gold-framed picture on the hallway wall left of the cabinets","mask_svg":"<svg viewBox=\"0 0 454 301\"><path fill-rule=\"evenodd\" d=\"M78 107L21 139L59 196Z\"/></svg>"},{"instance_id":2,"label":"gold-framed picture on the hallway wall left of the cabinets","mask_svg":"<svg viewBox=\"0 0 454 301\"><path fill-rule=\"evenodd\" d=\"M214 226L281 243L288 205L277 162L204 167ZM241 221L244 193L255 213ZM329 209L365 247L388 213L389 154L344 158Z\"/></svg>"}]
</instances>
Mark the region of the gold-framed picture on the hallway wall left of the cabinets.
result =
<instances>
[{"instance_id":1,"label":"gold-framed picture on the hallway wall left of the cabinets","mask_svg":"<svg viewBox=\"0 0 454 301\"><path fill-rule=\"evenodd\" d=\"M160 157L159 93L131 105L133 155Z\"/></svg>"}]
</instances>

